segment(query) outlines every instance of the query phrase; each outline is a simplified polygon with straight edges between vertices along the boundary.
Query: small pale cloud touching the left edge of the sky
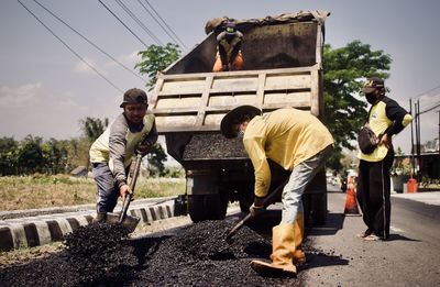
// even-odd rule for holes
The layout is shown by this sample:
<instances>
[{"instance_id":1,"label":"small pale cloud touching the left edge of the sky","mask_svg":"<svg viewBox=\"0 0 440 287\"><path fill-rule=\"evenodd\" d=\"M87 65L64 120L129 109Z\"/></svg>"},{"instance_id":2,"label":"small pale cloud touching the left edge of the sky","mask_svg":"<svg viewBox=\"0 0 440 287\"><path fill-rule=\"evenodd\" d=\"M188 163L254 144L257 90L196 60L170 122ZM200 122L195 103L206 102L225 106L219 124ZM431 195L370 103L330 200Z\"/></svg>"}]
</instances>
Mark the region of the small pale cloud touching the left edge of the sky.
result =
<instances>
[{"instance_id":1,"label":"small pale cloud touching the left edge of the sky","mask_svg":"<svg viewBox=\"0 0 440 287\"><path fill-rule=\"evenodd\" d=\"M29 104L35 100L42 91L42 84L26 84L15 88L8 86L0 87L0 106L1 107L16 107L21 104Z\"/></svg>"}]
</instances>

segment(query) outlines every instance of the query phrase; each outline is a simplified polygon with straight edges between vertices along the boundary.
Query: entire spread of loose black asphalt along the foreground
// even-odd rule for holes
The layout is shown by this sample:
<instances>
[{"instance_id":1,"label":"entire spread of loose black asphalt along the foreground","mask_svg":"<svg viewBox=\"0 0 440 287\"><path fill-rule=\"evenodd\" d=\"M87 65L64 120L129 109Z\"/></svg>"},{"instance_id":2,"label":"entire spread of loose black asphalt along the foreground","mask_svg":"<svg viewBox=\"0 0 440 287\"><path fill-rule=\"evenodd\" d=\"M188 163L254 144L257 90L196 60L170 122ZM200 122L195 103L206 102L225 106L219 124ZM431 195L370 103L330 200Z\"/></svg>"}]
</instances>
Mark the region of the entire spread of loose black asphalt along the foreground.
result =
<instances>
[{"instance_id":1,"label":"entire spread of loose black asphalt along the foreground","mask_svg":"<svg viewBox=\"0 0 440 287\"><path fill-rule=\"evenodd\" d=\"M0 269L1 286L299 286L297 278L261 277L252 258L271 242L243 227L229 244L227 221L204 221L177 234L127 240L118 225L94 224L66 236L48 257Z\"/></svg>"}]
</instances>

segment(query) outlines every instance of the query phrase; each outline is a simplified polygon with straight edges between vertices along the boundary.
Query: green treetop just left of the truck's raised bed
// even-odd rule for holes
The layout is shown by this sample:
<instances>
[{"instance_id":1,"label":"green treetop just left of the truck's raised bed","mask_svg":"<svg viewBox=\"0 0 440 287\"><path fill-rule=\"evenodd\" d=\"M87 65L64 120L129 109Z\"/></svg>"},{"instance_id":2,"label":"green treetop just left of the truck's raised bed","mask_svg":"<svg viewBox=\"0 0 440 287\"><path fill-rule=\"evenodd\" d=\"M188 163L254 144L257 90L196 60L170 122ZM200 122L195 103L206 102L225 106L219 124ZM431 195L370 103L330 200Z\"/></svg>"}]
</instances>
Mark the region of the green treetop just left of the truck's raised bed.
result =
<instances>
[{"instance_id":1,"label":"green treetop just left of the truck's raised bed","mask_svg":"<svg viewBox=\"0 0 440 287\"><path fill-rule=\"evenodd\" d=\"M167 43L165 46L150 45L145 51L141 51L142 60L134 65L139 71L148 76L148 84L146 85L152 89L156 82L156 75L158 71L164 70L170 64L178 59L180 56L179 46L176 44Z\"/></svg>"}]
</instances>

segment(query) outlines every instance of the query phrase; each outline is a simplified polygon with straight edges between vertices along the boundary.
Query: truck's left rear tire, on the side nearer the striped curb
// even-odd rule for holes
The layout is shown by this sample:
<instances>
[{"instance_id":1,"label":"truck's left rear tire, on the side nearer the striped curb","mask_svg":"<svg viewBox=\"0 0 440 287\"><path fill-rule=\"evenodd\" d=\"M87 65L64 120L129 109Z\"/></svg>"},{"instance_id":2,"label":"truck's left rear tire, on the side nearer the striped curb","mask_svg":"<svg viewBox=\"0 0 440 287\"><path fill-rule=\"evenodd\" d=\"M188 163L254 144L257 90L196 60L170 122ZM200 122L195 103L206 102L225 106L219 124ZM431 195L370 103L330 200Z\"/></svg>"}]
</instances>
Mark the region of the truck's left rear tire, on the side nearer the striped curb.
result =
<instances>
[{"instance_id":1,"label":"truck's left rear tire, on the side nearer the striped curb","mask_svg":"<svg viewBox=\"0 0 440 287\"><path fill-rule=\"evenodd\" d=\"M228 201L217 195L188 196L188 212L193 222L222 220L226 218Z\"/></svg>"}]
</instances>

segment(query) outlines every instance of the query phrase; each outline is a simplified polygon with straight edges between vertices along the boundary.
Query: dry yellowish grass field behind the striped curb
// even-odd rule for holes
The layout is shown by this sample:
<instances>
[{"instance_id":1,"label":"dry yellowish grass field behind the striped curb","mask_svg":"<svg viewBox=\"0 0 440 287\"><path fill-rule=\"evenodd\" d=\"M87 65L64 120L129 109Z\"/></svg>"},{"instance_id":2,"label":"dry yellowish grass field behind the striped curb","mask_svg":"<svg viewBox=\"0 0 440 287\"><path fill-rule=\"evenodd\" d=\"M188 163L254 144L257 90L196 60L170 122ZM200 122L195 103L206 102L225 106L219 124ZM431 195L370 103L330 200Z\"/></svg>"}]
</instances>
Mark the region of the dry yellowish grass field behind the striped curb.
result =
<instances>
[{"instance_id":1,"label":"dry yellowish grass field behind the striped curb","mask_svg":"<svg viewBox=\"0 0 440 287\"><path fill-rule=\"evenodd\" d=\"M0 210L20 210L96 202L97 187L91 178L67 175L0 177ZM139 178L135 199L185 194L185 178Z\"/></svg>"}]
</instances>

